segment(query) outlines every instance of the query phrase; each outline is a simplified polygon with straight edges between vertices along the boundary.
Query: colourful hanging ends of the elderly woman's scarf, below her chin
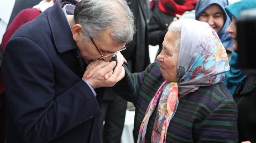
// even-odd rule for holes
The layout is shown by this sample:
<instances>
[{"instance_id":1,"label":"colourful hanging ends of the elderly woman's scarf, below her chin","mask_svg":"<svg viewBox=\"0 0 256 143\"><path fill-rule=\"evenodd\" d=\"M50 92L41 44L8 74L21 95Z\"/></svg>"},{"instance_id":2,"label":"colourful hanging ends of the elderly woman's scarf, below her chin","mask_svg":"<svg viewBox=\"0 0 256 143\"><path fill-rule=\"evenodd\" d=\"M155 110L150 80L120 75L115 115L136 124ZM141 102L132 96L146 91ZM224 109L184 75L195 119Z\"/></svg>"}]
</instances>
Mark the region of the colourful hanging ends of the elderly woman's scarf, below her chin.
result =
<instances>
[{"instance_id":1,"label":"colourful hanging ends of the elderly woman's scarf, below her chin","mask_svg":"<svg viewBox=\"0 0 256 143\"><path fill-rule=\"evenodd\" d=\"M176 82L165 80L149 103L145 118L139 129L137 143L145 143L144 137L147 130L148 120L154 112L156 105L158 105L157 116L152 131L151 142L165 143L167 129L176 112L178 102L178 84Z\"/></svg>"}]
</instances>

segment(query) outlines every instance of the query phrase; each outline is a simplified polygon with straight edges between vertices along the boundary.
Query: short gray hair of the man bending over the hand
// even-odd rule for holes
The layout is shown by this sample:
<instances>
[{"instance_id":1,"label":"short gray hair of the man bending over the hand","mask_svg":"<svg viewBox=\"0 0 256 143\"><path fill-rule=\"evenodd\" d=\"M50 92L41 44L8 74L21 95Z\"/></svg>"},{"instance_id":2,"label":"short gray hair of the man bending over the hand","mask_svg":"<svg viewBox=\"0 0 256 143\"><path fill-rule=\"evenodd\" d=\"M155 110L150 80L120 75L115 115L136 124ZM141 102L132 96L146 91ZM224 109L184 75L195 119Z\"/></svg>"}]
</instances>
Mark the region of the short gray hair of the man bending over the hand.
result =
<instances>
[{"instance_id":1,"label":"short gray hair of the man bending over the hand","mask_svg":"<svg viewBox=\"0 0 256 143\"><path fill-rule=\"evenodd\" d=\"M74 22L82 25L83 39L102 38L108 31L115 43L122 45L132 41L134 16L126 0L82 0L74 11Z\"/></svg>"}]
</instances>

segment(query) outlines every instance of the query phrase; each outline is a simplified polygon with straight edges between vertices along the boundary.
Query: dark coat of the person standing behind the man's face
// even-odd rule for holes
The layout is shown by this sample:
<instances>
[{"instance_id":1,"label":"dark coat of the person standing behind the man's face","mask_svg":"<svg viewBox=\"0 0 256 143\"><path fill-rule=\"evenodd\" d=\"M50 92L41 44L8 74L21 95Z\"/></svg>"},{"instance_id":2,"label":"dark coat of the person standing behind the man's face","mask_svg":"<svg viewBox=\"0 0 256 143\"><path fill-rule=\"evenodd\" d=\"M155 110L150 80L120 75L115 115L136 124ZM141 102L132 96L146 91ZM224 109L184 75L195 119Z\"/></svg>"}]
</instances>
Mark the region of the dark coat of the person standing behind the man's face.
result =
<instances>
[{"instance_id":1,"label":"dark coat of the person standing behind the man's face","mask_svg":"<svg viewBox=\"0 0 256 143\"><path fill-rule=\"evenodd\" d=\"M148 52L147 0L127 0L134 13L136 31L133 42L126 44L126 50L121 53L132 63L131 72L142 72L150 64ZM130 66L130 65L129 65Z\"/></svg>"}]
</instances>

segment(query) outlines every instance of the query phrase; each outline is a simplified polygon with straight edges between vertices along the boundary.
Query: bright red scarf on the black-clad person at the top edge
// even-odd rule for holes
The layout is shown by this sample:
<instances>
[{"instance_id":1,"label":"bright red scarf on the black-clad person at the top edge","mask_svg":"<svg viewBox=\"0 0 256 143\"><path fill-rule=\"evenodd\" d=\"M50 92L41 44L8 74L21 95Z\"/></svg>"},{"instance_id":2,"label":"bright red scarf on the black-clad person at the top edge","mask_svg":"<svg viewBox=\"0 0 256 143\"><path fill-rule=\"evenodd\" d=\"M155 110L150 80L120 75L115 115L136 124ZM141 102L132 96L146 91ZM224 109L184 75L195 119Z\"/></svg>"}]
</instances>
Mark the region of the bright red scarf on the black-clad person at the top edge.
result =
<instances>
[{"instance_id":1,"label":"bright red scarf on the black-clad person at the top edge","mask_svg":"<svg viewBox=\"0 0 256 143\"><path fill-rule=\"evenodd\" d=\"M158 0L158 8L163 13L170 15L180 14L191 11L195 8L198 0Z\"/></svg>"}]
</instances>

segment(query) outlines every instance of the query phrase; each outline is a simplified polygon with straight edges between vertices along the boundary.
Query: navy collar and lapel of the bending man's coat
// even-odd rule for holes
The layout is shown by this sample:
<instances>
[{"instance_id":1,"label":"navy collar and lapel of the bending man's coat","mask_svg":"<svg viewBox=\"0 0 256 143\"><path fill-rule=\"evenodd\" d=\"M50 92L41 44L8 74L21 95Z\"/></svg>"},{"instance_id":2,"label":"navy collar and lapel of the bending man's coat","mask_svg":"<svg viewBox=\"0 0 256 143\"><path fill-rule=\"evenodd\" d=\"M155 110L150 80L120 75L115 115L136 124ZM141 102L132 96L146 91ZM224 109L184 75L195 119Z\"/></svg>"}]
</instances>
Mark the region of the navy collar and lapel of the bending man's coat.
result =
<instances>
[{"instance_id":1,"label":"navy collar and lapel of the bending man's coat","mask_svg":"<svg viewBox=\"0 0 256 143\"><path fill-rule=\"evenodd\" d=\"M68 1L73 4L77 3L76 0ZM48 9L48 22L52 30L54 43L59 52L59 56L70 70L76 73L79 77L82 77L84 72L84 62L80 57L76 42L73 40L69 22L62 11L61 2L61 0L57 0L56 3Z\"/></svg>"}]
</instances>

